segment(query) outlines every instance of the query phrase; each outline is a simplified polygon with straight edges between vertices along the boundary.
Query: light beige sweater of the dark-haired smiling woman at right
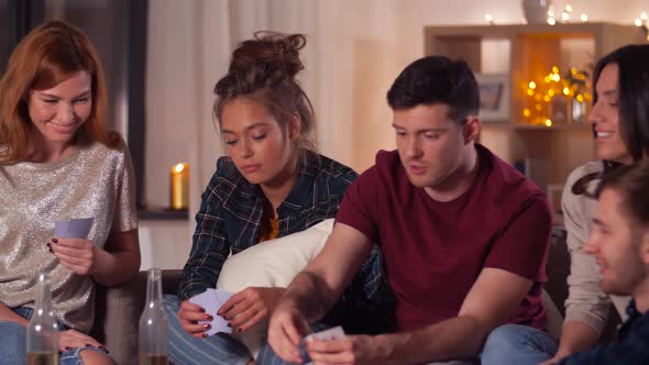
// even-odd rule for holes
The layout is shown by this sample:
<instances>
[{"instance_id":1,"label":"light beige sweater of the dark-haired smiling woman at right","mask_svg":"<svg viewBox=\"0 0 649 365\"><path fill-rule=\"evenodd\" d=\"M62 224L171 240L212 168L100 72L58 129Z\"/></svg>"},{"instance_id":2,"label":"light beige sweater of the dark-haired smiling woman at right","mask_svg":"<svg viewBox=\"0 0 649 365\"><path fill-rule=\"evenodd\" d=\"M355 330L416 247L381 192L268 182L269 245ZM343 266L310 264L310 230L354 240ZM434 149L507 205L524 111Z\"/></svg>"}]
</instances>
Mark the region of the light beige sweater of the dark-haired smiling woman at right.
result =
<instances>
[{"instance_id":1,"label":"light beige sweater of the dark-haired smiling woman at right","mask_svg":"<svg viewBox=\"0 0 649 365\"><path fill-rule=\"evenodd\" d=\"M613 301L619 316L625 320L625 309L630 298L608 296L600 289L600 279L602 278L600 265L593 255L583 251L593 229L593 214L597 207L597 200L583 193L574 195L572 186L581 177L603 170L604 164L602 162L592 162L578 167L568 177L561 199L571 257L565 322L582 321L590 324L600 334L606 324L610 302ZM591 181L587 190L594 193L598 184L598 179Z\"/></svg>"}]
</instances>

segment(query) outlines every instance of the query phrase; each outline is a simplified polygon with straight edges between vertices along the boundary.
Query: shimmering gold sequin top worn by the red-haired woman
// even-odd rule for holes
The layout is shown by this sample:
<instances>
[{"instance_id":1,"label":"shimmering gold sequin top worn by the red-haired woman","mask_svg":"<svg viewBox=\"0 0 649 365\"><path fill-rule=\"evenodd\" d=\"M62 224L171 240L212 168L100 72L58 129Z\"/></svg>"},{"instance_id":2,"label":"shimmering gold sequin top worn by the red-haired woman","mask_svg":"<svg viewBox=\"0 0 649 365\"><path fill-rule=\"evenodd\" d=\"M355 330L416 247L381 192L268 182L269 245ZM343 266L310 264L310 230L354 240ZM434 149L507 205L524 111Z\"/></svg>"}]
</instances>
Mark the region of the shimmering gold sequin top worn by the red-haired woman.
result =
<instances>
[{"instance_id":1,"label":"shimmering gold sequin top worn by the red-haired woman","mask_svg":"<svg viewBox=\"0 0 649 365\"><path fill-rule=\"evenodd\" d=\"M128 148L98 142L55 163L0 165L0 301L33 307L41 270L52 274L56 319L88 332L95 281L73 274L50 253L54 221L95 218L88 239L103 247L111 230L138 226L135 181Z\"/></svg>"}]
</instances>

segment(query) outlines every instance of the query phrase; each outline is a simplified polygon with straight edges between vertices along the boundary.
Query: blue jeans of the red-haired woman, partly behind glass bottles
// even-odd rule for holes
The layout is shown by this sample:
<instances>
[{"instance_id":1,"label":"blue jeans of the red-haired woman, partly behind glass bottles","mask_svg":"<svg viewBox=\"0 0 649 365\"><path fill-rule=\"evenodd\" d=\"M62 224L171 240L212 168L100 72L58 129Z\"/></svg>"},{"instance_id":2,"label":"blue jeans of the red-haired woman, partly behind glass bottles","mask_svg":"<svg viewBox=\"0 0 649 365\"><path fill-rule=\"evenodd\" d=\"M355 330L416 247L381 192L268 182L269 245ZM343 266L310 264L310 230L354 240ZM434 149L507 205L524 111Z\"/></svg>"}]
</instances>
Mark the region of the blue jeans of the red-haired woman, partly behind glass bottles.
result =
<instances>
[{"instance_id":1,"label":"blue jeans of the red-haired woman, partly behind glass bottles","mask_svg":"<svg viewBox=\"0 0 649 365\"><path fill-rule=\"evenodd\" d=\"M30 319L33 309L26 307L12 308L12 310L22 318ZM58 323L62 331L68 330L63 323ZM28 363L28 329L19 323L11 321L0 321L0 365L15 365ZM86 346L72 349L63 353L58 353L59 365L80 365L82 364L79 353L81 351L95 351L106 354L106 351ZM108 355L106 355L110 358ZM112 361L112 358L111 358ZM114 361L113 361L114 363Z\"/></svg>"}]
</instances>

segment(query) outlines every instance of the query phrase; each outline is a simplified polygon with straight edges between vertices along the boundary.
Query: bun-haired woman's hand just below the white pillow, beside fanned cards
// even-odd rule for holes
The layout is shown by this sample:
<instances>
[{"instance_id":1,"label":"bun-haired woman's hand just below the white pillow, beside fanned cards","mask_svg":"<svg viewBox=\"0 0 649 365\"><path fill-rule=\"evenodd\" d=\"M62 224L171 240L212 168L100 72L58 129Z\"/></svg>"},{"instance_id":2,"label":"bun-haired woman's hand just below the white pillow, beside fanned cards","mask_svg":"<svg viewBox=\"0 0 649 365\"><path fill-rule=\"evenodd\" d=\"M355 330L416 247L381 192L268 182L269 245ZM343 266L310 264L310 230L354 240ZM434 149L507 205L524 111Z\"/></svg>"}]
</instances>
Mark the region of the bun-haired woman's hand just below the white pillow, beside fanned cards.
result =
<instances>
[{"instance_id":1,"label":"bun-haired woman's hand just below the white pillow, beside fanned cards","mask_svg":"<svg viewBox=\"0 0 649 365\"><path fill-rule=\"evenodd\" d=\"M243 332L270 317L285 288L245 288L233 295L219 308L217 314L230 322L232 329Z\"/></svg>"}]
</instances>

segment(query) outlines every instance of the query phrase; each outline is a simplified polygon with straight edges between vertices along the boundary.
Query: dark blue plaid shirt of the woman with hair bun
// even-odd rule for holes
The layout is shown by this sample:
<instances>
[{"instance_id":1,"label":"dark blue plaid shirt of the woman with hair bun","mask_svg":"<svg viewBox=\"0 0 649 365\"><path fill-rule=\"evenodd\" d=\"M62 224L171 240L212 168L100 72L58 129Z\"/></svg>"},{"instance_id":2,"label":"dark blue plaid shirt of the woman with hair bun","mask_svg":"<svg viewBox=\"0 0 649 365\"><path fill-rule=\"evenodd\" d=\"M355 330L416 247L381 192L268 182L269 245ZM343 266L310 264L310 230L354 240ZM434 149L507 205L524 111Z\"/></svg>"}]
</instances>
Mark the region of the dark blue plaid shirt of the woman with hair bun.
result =
<instances>
[{"instance_id":1,"label":"dark blue plaid shirt of the woman with hair bun","mask_svg":"<svg viewBox=\"0 0 649 365\"><path fill-rule=\"evenodd\" d=\"M311 154L307 164L300 164L295 186L277 208L277 236L334 218L344 191L356 177L351 168ZM230 157L219 158L196 214L194 243L180 277L178 299L183 301L213 288L230 252L237 254L255 245L265 220L262 189L248 182ZM392 306L382 263L381 251L375 245L343 295L349 306L362 312ZM381 309L383 313L376 316L385 318L385 310Z\"/></svg>"}]
</instances>

